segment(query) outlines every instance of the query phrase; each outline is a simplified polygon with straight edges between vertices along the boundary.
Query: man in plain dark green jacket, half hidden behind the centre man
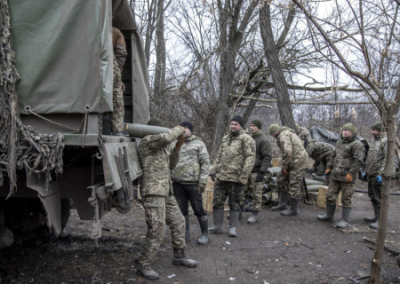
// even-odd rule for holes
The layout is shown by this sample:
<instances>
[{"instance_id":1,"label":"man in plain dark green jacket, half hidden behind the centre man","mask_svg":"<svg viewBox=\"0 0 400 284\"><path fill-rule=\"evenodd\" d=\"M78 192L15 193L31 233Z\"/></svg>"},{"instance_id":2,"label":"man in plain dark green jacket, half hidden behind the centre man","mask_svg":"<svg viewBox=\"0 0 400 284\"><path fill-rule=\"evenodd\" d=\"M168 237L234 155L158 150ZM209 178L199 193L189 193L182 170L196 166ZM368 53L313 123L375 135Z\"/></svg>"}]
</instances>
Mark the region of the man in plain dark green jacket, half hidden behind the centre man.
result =
<instances>
[{"instance_id":1,"label":"man in plain dark green jacket, half hidden behind the centre man","mask_svg":"<svg viewBox=\"0 0 400 284\"><path fill-rule=\"evenodd\" d=\"M240 208L243 210L246 192L249 191L253 197L253 212L247 223L254 224L258 218L258 212L261 210L261 198L263 192L263 178L265 172L271 164L271 144L267 137L262 133L262 122L259 119L254 119L250 122L251 137L256 142L256 162L249 175L249 184L242 195ZM240 216L239 216L240 219Z\"/></svg>"}]
</instances>

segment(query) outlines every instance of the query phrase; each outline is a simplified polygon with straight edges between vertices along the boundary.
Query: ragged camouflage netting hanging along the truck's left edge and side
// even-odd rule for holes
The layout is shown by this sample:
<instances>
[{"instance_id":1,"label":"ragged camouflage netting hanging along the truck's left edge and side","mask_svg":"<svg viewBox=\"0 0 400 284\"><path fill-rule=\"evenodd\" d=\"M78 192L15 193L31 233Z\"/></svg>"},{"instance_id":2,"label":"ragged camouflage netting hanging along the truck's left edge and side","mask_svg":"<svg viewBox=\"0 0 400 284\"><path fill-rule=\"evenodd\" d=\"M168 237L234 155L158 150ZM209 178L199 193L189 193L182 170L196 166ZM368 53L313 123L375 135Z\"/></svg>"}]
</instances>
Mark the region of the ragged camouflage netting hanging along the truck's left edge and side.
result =
<instances>
[{"instance_id":1,"label":"ragged camouflage netting hanging along the truck's left edge and side","mask_svg":"<svg viewBox=\"0 0 400 284\"><path fill-rule=\"evenodd\" d=\"M64 149L63 136L40 134L19 120L15 85L19 74L15 68L15 52L11 42L10 13L7 0L0 0L1 47L0 47L0 185L4 172L8 173L10 192L16 190L16 170L24 167L30 173L61 173Z\"/></svg>"}]
</instances>

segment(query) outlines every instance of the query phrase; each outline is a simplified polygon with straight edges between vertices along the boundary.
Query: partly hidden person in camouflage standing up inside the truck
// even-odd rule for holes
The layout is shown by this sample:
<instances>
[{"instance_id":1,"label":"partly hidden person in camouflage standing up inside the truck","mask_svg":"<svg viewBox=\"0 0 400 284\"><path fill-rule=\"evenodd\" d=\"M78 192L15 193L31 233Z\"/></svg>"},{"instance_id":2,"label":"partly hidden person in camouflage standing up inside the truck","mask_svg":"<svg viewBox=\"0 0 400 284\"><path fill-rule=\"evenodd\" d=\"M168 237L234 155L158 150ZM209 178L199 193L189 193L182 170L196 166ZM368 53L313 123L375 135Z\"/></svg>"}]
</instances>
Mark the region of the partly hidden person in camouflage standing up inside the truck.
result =
<instances>
[{"instance_id":1,"label":"partly hidden person in camouflage standing up inside the truck","mask_svg":"<svg viewBox=\"0 0 400 284\"><path fill-rule=\"evenodd\" d=\"M127 56L124 35L117 28L112 28L113 41L113 112L110 114L111 132L113 135L124 133L124 84L122 70Z\"/></svg>"}]
</instances>

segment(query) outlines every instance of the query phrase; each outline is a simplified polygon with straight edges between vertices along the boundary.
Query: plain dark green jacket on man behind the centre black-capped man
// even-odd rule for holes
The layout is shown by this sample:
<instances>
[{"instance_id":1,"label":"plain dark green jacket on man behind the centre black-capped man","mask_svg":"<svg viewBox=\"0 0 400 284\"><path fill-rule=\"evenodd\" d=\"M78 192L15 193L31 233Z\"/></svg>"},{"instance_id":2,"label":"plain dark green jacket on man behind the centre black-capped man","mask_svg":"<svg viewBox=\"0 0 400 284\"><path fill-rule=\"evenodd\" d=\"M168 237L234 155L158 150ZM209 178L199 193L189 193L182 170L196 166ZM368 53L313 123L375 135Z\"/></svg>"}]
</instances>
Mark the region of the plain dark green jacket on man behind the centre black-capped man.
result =
<instances>
[{"instance_id":1,"label":"plain dark green jacket on man behind the centre black-capped man","mask_svg":"<svg viewBox=\"0 0 400 284\"><path fill-rule=\"evenodd\" d=\"M272 149L268 138L260 131L252 134L251 137L256 141L256 162L252 173L266 172L271 165Z\"/></svg>"}]
</instances>

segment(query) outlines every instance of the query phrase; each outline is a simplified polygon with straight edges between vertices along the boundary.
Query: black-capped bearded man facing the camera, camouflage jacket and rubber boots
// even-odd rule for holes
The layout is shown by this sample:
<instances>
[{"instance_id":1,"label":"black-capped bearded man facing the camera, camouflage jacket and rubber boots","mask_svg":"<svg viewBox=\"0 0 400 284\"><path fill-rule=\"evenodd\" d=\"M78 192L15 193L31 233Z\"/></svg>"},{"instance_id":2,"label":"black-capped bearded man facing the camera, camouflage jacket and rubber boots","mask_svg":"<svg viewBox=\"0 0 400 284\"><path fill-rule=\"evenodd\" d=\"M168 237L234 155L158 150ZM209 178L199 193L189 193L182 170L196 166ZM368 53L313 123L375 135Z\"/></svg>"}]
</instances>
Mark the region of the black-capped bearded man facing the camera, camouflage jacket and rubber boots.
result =
<instances>
[{"instance_id":1,"label":"black-capped bearded man facing the camera, camouflage jacket and rubber boots","mask_svg":"<svg viewBox=\"0 0 400 284\"><path fill-rule=\"evenodd\" d=\"M240 198L255 162L254 140L242 127L242 117L235 115L231 119L229 134L222 138L215 164L210 170L212 180L216 178L213 199L214 226L209 228L211 234L223 233L224 203L229 196L228 235L237 236Z\"/></svg>"}]
</instances>

